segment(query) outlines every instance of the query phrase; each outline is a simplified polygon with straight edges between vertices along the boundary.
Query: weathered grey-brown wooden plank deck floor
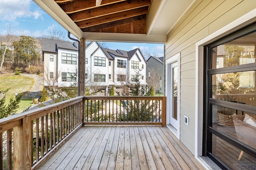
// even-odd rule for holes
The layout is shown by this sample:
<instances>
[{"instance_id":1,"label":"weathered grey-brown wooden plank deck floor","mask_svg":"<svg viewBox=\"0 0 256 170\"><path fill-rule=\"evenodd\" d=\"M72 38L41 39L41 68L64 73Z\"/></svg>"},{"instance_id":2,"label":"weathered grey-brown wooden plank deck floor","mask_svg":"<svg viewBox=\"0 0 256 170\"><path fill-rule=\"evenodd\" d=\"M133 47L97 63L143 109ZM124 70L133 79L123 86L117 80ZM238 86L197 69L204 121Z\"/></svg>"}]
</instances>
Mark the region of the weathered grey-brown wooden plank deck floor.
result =
<instances>
[{"instance_id":1,"label":"weathered grey-brown wooden plank deck floor","mask_svg":"<svg viewBox=\"0 0 256 170\"><path fill-rule=\"evenodd\" d=\"M204 170L192 153L161 126L85 126L40 170Z\"/></svg>"}]
</instances>

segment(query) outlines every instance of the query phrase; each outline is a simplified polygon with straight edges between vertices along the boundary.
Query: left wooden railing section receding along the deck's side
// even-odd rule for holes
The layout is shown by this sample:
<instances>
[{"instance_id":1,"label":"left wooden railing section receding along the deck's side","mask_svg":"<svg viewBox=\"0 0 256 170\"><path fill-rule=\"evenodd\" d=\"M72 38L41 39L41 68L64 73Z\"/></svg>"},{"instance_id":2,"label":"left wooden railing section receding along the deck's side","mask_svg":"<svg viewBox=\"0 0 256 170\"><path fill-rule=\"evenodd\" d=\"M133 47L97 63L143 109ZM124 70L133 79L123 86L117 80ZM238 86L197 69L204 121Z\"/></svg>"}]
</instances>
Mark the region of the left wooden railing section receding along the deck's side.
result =
<instances>
[{"instance_id":1,"label":"left wooden railing section receding along the deck's side","mask_svg":"<svg viewBox=\"0 0 256 170\"><path fill-rule=\"evenodd\" d=\"M82 127L83 106L77 97L0 119L0 170L38 166Z\"/></svg>"}]
</instances>

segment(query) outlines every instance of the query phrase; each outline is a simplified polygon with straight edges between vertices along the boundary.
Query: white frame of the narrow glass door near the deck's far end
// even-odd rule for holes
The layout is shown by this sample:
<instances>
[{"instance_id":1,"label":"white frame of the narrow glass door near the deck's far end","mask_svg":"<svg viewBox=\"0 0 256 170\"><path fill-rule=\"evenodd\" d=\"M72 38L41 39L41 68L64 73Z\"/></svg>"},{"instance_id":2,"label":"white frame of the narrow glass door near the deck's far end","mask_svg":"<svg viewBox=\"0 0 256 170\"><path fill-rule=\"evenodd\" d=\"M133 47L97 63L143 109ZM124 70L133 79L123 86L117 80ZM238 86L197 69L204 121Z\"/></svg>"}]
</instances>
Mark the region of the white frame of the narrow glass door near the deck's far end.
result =
<instances>
[{"instance_id":1,"label":"white frame of the narrow glass door near the deck's far end","mask_svg":"<svg viewBox=\"0 0 256 170\"><path fill-rule=\"evenodd\" d=\"M170 113L171 113L171 107L170 104L171 103L171 97L170 94L170 72L169 72L169 68L170 68L170 64L172 63L176 63L178 64L178 92L177 92L177 127L176 129L172 126L170 126ZM167 101L166 101L166 125L168 127L168 129L170 129L170 131L172 131L172 133L174 133L174 135L180 139L180 53L177 53L176 55L170 57L169 59L166 59L165 62L165 69L166 69L166 97L167 97Z\"/></svg>"}]
</instances>

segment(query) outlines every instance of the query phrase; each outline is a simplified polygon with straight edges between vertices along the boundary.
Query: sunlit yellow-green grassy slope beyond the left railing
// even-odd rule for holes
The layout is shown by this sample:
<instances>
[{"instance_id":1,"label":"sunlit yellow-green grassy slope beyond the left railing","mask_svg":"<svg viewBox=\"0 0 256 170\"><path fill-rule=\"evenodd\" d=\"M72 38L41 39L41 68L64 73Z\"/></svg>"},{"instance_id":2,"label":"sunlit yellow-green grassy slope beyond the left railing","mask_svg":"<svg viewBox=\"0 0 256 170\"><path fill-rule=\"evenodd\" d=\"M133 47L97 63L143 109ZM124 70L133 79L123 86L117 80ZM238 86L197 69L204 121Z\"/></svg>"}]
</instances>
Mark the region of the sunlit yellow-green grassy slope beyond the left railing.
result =
<instances>
[{"instance_id":1,"label":"sunlit yellow-green grassy slope beyond the left railing","mask_svg":"<svg viewBox=\"0 0 256 170\"><path fill-rule=\"evenodd\" d=\"M6 104L9 102L10 98L15 98L15 93L30 91L33 84L34 79L27 76L15 75L14 73L0 74L0 89L6 90L10 88L6 93ZM22 99L17 112L20 113L25 107L32 104L32 98Z\"/></svg>"}]
</instances>

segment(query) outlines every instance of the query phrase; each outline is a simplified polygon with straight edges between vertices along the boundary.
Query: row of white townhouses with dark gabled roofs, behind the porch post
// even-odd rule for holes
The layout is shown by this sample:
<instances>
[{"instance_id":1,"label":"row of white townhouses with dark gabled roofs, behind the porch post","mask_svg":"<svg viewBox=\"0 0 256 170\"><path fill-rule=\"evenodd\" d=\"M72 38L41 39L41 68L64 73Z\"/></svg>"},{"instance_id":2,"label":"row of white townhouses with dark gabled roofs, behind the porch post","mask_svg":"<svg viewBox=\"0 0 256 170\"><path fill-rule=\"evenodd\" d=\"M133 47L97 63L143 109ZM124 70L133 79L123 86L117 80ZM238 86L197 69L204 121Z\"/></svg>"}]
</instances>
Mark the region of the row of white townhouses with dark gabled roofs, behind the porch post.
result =
<instances>
[{"instance_id":1,"label":"row of white townhouses with dark gabled roofs, behind the porch post","mask_svg":"<svg viewBox=\"0 0 256 170\"><path fill-rule=\"evenodd\" d=\"M44 86L59 87L74 84L77 72L78 50L75 43L42 38L44 59ZM141 88L146 84L146 60L140 49L132 51L105 49L96 41L86 46L85 86L97 87L108 95L114 85L134 84L139 72Z\"/></svg>"}]
</instances>

